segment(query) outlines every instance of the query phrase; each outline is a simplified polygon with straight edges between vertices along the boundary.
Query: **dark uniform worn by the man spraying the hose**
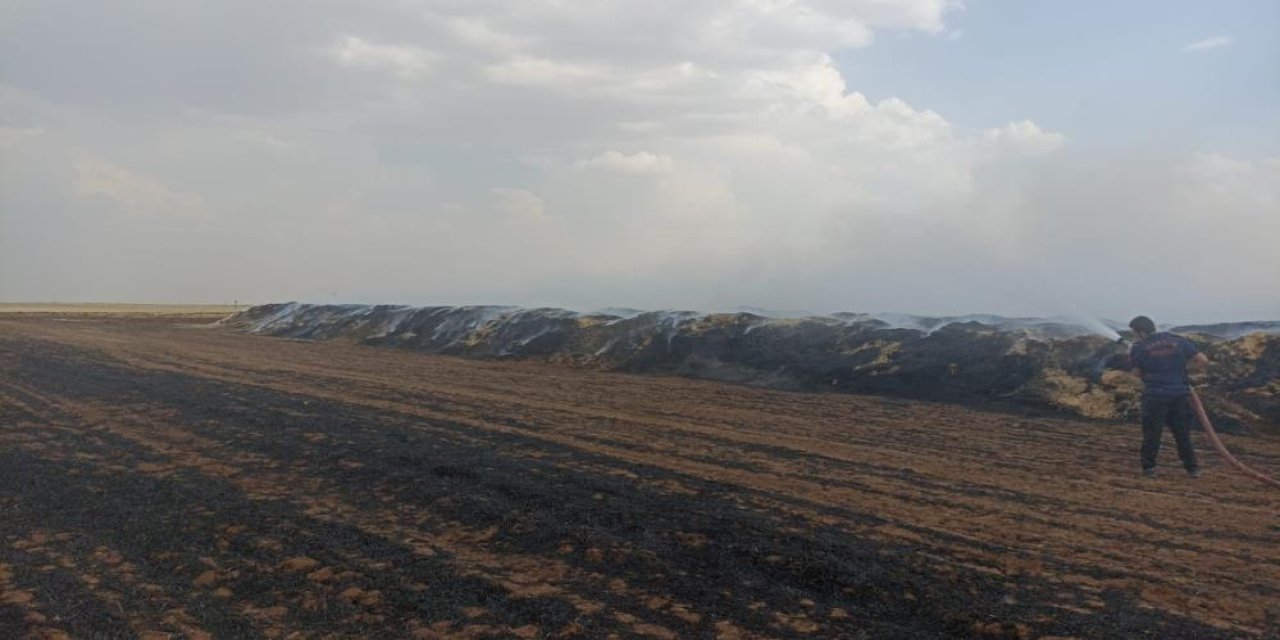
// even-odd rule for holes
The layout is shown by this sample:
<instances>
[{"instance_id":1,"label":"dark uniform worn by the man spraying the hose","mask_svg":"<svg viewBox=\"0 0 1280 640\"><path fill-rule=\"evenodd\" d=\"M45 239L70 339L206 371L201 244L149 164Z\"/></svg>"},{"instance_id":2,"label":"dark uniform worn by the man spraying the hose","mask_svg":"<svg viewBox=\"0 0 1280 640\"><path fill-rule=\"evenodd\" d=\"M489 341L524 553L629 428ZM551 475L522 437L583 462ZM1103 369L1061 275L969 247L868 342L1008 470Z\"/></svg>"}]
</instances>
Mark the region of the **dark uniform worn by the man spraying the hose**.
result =
<instances>
[{"instance_id":1,"label":"dark uniform worn by the man spraying the hose","mask_svg":"<svg viewBox=\"0 0 1280 640\"><path fill-rule=\"evenodd\" d=\"M1192 448L1190 383L1187 362L1196 357L1196 346L1181 335L1156 333L1129 349L1129 361L1142 374L1142 468L1156 468L1160 435L1169 425L1178 443L1178 457L1189 474L1197 472Z\"/></svg>"}]
</instances>

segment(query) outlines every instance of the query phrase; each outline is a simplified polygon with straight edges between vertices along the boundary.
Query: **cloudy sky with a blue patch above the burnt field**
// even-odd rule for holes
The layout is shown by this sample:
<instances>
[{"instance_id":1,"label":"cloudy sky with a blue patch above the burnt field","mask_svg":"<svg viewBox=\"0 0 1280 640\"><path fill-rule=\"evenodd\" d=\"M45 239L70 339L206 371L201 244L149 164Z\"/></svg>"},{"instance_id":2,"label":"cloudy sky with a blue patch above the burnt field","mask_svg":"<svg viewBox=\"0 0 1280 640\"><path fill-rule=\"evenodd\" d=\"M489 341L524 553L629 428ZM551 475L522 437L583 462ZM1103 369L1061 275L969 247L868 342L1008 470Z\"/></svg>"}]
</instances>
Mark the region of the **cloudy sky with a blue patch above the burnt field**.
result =
<instances>
[{"instance_id":1,"label":"cloudy sky with a blue patch above the burnt field","mask_svg":"<svg viewBox=\"0 0 1280 640\"><path fill-rule=\"evenodd\" d=\"M1280 319L1280 3L0 0L0 301Z\"/></svg>"}]
</instances>

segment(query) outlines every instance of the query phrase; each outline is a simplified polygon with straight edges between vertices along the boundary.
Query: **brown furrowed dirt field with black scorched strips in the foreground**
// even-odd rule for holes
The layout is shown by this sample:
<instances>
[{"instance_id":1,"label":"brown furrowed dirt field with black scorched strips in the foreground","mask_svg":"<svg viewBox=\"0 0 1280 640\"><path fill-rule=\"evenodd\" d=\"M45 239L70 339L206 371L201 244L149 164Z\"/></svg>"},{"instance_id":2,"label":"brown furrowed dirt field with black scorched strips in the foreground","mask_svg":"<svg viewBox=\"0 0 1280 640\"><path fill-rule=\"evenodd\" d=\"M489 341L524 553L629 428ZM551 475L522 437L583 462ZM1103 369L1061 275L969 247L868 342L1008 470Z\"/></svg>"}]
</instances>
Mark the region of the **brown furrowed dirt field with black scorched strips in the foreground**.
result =
<instances>
[{"instance_id":1,"label":"brown furrowed dirt field with black scorched strips in the foreground","mask_svg":"<svg viewBox=\"0 0 1280 640\"><path fill-rule=\"evenodd\" d=\"M1137 444L0 316L0 637L1276 637L1280 495L1203 447L1138 477Z\"/></svg>"}]
</instances>

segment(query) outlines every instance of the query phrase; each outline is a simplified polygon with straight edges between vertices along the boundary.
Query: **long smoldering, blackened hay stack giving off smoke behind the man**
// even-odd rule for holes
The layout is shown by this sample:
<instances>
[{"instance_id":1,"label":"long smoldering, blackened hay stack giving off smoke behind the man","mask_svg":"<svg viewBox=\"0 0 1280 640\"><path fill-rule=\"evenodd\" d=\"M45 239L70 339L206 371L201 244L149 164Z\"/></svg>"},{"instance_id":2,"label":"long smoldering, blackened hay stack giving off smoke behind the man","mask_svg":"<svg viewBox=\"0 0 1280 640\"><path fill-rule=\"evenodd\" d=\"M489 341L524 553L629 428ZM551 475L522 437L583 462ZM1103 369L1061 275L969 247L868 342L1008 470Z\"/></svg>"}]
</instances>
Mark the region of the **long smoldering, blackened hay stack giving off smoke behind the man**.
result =
<instances>
[{"instance_id":1,"label":"long smoldering, blackened hay stack giving off smoke behind the man","mask_svg":"<svg viewBox=\"0 0 1280 640\"><path fill-rule=\"evenodd\" d=\"M1135 420L1140 396L1119 371L1124 347L1070 319L289 302L251 307L221 324L293 339L1107 420ZM1171 329L1190 335L1215 362L1201 394L1220 428L1280 433L1280 321Z\"/></svg>"}]
</instances>

